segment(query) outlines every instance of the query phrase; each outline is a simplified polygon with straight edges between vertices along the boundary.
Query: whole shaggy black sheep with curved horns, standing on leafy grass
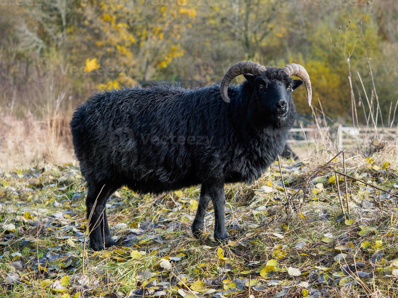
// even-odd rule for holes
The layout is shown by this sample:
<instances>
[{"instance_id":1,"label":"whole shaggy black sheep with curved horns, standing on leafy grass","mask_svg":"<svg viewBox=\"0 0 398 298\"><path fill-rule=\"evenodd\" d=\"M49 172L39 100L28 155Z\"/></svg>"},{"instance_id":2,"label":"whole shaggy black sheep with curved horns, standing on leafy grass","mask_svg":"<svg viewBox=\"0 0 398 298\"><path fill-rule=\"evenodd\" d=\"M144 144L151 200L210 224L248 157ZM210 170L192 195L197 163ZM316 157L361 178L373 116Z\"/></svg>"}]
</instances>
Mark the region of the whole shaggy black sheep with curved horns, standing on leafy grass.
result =
<instances>
[{"instance_id":1,"label":"whole shaggy black sheep with curved horns, standing on leafy grass","mask_svg":"<svg viewBox=\"0 0 398 298\"><path fill-rule=\"evenodd\" d=\"M240 74L246 81L228 88ZM283 151L296 117L292 91L303 83L290 75L304 80L310 103L302 66L264 68L248 61L232 66L221 85L123 88L94 94L79 106L71 128L87 182L91 248L115 244L105 203L121 186L159 194L201 184L193 234L201 234L212 199L214 237L227 238L224 184L253 182Z\"/></svg>"}]
</instances>

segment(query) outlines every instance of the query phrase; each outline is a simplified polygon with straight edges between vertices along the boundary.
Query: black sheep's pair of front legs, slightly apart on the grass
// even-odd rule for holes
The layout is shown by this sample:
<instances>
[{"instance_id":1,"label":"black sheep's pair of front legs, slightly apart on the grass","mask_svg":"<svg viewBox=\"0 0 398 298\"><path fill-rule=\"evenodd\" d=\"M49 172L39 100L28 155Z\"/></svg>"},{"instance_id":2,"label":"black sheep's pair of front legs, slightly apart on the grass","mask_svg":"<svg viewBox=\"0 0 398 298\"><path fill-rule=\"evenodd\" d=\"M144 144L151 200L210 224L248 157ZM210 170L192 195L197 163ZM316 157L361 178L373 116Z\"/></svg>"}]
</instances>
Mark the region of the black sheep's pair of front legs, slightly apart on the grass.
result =
<instances>
[{"instance_id":1,"label":"black sheep's pair of front legs, slightly apart on the grass","mask_svg":"<svg viewBox=\"0 0 398 298\"><path fill-rule=\"evenodd\" d=\"M225 194L224 184L222 183L202 184L198 210L195 216L195 220L192 224L192 232L195 236L200 236L201 230L203 229L203 221L205 218L206 207L210 199L213 200L215 216L214 238L218 240L223 240L225 238L228 238L228 234L225 230Z\"/></svg>"}]
</instances>

